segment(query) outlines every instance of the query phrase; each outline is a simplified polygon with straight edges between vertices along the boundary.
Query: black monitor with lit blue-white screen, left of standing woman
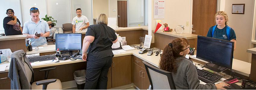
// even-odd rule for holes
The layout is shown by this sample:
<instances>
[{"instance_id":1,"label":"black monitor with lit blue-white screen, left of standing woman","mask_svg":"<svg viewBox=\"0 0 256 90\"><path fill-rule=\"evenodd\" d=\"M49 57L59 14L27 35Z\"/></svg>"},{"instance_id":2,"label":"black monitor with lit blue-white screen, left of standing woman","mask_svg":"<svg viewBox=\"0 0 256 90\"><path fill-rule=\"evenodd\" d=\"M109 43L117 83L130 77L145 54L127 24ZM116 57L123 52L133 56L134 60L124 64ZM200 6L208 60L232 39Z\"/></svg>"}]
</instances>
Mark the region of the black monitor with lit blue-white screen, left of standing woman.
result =
<instances>
[{"instance_id":1,"label":"black monitor with lit blue-white screen, left of standing woman","mask_svg":"<svg viewBox=\"0 0 256 90\"><path fill-rule=\"evenodd\" d=\"M82 49L82 34L56 34L56 50L80 50Z\"/></svg>"}]
</instances>

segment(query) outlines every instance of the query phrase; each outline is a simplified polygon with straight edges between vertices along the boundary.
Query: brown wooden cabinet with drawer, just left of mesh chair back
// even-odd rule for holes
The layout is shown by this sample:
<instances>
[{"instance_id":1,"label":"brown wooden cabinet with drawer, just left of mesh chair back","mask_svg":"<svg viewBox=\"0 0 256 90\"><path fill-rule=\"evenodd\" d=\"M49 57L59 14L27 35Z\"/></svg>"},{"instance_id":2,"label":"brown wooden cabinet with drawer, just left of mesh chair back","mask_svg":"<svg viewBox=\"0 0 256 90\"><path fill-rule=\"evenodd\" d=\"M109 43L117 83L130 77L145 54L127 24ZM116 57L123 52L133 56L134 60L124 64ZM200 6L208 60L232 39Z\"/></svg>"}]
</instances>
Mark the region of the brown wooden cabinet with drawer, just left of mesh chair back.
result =
<instances>
[{"instance_id":1,"label":"brown wooden cabinet with drawer, just left of mesh chair back","mask_svg":"<svg viewBox=\"0 0 256 90\"><path fill-rule=\"evenodd\" d=\"M136 56L133 56L132 61L133 61L132 77L133 77L134 85L136 85L139 89L144 89L144 90L148 89L150 82L148 79L148 74L145 70L145 66L142 63L142 59L137 58Z\"/></svg>"}]
</instances>

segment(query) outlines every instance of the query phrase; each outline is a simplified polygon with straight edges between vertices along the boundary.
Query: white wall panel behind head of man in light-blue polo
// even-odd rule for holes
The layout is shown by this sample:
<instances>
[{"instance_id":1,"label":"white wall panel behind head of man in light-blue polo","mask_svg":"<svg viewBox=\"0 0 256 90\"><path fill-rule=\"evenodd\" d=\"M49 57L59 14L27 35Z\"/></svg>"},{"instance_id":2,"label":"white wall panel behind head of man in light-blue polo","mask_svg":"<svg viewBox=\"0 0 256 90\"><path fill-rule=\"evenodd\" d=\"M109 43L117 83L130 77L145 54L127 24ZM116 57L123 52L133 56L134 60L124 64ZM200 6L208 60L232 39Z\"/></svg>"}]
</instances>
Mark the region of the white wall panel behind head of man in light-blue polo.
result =
<instances>
[{"instance_id":1,"label":"white wall panel behind head of man in light-blue polo","mask_svg":"<svg viewBox=\"0 0 256 90\"><path fill-rule=\"evenodd\" d=\"M47 14L46 0L20 0L21 1L21 11L22 11L22 21L23 24L31 19L30 8L37 7L39 10L39 18L45 17ZM14 11L15 12L15 11Z\"/></svg>"}]
</instances>

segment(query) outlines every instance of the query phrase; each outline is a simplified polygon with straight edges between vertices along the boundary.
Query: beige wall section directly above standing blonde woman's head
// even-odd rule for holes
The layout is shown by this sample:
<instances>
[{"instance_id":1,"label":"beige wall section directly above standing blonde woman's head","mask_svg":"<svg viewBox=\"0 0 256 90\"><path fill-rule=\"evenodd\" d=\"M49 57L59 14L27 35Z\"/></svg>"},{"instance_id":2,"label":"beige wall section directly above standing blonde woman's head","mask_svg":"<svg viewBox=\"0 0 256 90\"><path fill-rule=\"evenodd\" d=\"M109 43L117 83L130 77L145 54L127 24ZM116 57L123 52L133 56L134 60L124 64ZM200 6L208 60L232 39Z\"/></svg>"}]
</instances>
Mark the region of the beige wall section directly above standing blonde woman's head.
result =
<instances>
[{"instance_id":1,"label":"beige wall section directly above standing blonde woman's head","mask_svg":"<svg viewBox=\"0 0 256 90\"><path fill-rule=\"evenodd\" d=\"M93 18L97 18L99 14L105 13L109 16L108 0L92 0Z\"/></svg>"}]
</instances>

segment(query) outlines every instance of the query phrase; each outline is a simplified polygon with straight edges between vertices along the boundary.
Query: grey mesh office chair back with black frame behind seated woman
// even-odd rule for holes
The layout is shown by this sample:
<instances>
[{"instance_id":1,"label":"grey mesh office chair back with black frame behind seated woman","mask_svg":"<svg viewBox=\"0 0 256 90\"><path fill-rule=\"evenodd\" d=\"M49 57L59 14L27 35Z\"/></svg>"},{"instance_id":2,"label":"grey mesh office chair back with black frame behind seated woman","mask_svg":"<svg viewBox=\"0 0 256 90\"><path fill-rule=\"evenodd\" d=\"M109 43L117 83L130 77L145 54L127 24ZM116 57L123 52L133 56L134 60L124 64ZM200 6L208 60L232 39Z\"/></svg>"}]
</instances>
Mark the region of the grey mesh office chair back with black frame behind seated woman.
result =
<instances>
[{"instance_id":1,"label":"grey mesh office chair back with black frame behind seated woman","mask_svg":"<svg viewBox=\"0 0 256 90\"><path fill-rule=\"evenodd\" d=\"M161 70L146 61L142 62L145 64L145 69L150 81L148 89L176 89L171 72Z\"/></svg>"}]
</instances>

